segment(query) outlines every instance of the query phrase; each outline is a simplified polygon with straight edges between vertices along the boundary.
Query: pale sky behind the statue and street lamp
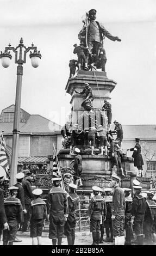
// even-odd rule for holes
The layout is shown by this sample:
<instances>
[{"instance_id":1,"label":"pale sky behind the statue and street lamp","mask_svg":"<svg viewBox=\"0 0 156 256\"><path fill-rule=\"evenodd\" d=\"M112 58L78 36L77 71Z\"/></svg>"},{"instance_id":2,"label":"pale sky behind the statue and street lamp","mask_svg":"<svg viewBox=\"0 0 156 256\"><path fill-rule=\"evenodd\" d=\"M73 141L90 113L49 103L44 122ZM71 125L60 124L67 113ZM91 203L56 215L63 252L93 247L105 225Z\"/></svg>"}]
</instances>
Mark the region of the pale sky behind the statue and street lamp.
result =
<instances>
[{"instance_id":1,"label":"pale sky behind the statue and street lamp","mask_svg":"<svg viewBox=\"0 0 156 256\"><path fill-rule=\"evenodd\" d=\"M111 96L113 119L121 124L156 124L156 1L155 0L0 0L0 50L16 47L23 38L32 42L42 58L34 69L23 64L21 108L64 125L70 113L71 95L65 87L68 62L76 58L82 16L97 10L102 22L121 42L105 39L106 71L117 82ZM15 103L15 56L10 66L0 66L2 109Z\"/></svg>"}]
</instances>

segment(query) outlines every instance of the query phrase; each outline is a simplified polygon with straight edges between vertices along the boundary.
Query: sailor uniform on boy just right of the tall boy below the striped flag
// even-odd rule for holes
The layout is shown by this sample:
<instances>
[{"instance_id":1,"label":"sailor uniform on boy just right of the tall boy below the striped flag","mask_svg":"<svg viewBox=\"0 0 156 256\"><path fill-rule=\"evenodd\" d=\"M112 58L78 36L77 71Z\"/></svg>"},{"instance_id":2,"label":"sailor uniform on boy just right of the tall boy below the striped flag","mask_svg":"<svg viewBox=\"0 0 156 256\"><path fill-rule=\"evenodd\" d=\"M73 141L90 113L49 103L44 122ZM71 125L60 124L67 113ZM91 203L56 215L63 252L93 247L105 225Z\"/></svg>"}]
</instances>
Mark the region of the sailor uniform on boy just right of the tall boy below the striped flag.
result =
<instances>
[{"instance_id":1,"label":"sailor uniform on boy just right of the tall boy below the striped flag","mask_svg":"<svg viewBox=\"0 0 156 256\"><path fill-rule=\"evenodd\" d=\"M76 227L76 209L78 207L79 197L76 193L70 193L68 196L68 217L65 222L65 235L68 245L74 245L75 227Z\"/></svg>"}]
</instances>

